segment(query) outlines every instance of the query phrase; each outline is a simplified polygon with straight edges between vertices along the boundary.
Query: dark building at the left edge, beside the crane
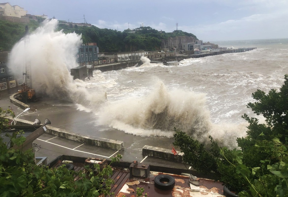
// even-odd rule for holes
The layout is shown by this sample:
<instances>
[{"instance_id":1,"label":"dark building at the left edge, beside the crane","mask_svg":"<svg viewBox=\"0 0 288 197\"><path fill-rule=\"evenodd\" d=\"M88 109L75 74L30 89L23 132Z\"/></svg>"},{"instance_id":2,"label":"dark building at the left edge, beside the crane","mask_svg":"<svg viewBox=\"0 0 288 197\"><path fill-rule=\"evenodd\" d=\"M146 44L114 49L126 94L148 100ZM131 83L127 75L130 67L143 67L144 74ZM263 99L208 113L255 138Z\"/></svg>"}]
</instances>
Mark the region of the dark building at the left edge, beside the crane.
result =
<instances>
[{"instance_id":1,"label":"dark building at the left edge, beside the crane","mask_svg":"<svg viewBox=\"0 0 288 197\"><path fill-rule=\"evenodd\" d=\"M22 84L21 79L15 79L12 68L7 65L11 53L8 51L0 51L0 91L17 87Z\"/></svg>"}]
</instances>

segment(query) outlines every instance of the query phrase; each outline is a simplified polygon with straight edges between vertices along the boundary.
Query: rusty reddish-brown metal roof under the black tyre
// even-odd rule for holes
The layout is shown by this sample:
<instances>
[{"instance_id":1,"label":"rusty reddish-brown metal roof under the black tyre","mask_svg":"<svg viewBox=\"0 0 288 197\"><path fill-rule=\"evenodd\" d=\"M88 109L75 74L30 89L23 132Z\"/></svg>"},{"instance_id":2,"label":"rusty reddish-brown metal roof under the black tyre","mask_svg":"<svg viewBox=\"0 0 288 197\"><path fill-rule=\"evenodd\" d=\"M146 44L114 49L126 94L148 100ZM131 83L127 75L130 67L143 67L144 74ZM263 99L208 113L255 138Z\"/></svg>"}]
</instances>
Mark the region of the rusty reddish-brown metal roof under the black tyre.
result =
<instances>
[{"instance_id":1,"label":"rusty reddish-brown metal roof under the black tyre","mask_svg":"<svg viewBox=\"0 0 288 197\"><path fill-rule=\"evenodd\" d=\"M58 160L53 167L58 167L64 164L62 160ZM84 171L84 162L73 162L74 170ZM175 186L171 190L160 190L154 186L154 179L157 175L167 174L175 179ZM77 178L77 177L76 177ZM197 178L194 177L197 184L193 185L190 183L190 177L184 175L175 175L162 172L150 171L147 178L132 177L130 178L130 173L128 168L123 167L113 167L113 174L111 179L114 180L114 184L111 186L110 192L114 192L112 196L117 197L135 197L137 188L144 188L144 193L148 196L153 197L221 197L223 196L223 185L219 181L214 181L211 179ZM107 196L108 197L108 196Z\"/></svg>"}]
</instances>

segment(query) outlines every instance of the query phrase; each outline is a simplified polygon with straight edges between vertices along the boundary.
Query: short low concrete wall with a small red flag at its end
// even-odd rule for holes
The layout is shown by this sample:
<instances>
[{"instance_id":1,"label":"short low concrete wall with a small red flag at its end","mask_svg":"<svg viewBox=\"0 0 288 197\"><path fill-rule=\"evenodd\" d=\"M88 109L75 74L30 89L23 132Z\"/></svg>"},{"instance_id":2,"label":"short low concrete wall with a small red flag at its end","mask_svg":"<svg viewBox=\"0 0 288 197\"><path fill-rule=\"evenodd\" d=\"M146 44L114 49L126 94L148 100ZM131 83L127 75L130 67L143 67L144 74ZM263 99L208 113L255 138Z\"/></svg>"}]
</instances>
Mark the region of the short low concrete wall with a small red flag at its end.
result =
<instances>
[{"instance_id":1,"label":"short low concrete wall with a small red flag at its end","mask_svg":"<svg viewBox=\"0 0 288 197\"><path fill-rule=\"evenodd\" d=\"M142 155L148 155L150 157L158 157L166 160L172 160L175 162L183 162L183 155L180 151L176 151L178 155L174 155L171 149L163 149L159 147L152 147L145 145L142 148Z\"/></svg>"}]
</instances>

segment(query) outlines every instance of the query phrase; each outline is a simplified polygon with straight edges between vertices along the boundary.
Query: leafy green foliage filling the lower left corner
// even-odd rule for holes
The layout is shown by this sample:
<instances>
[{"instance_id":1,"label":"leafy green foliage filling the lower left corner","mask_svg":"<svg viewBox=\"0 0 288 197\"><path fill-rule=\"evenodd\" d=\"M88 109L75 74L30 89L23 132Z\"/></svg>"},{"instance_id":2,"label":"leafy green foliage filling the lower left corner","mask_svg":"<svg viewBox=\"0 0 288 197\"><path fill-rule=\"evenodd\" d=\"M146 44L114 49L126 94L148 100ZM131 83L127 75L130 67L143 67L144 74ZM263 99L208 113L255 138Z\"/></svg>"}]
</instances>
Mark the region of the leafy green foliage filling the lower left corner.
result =
<instances>
[{"instance_id":1,"label":"leafy green foliage filling the lower left corner","mask_svg":"<svg viewBox=\"0 0 288 197\"><path fill-rule=\"evenodd\" d=\"M7 115L15 117L12 110L0 108L1 132L9 121ZM20 146L25 138L19 137L13 132L10 137L10 148L0 138L0 196L100 196L112 195L110 193L113 180L111 166L107 165L100 170L100 166L84 166L85 170L68 170L64 166L48 168L37 166L34 161L32 150L25 152L16 150L13 145ZM119 161L121 155L112 158L112 162ZM94 169L98 173L95 174ZM104 179L105 178L105 179ZM102 187L105 183L105 187Z\"/></svg>"}]
</instances>

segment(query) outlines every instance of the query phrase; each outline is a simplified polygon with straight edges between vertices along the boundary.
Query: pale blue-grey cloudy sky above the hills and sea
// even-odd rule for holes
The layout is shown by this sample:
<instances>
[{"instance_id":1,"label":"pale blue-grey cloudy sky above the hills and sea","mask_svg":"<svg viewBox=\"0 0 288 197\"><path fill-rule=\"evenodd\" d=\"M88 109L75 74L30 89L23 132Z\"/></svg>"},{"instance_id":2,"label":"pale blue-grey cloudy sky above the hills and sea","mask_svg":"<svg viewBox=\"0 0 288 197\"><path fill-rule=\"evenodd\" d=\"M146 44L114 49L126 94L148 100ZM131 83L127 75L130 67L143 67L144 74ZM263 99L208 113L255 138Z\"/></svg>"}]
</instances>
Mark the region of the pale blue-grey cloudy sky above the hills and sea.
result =
<instances>
[{"instance_id":1,"label":"pale blue-grey cloudy sky above the hills and sea","mask_svg":"<svg viewBox=\"0 0 288 197\"><path fill-rule=\"evenodd\" d=\"M28 14L123 31L144 26L193 33L199 40L288 37L288 0L10 0Z\"/></svg>"}]
</instances>

